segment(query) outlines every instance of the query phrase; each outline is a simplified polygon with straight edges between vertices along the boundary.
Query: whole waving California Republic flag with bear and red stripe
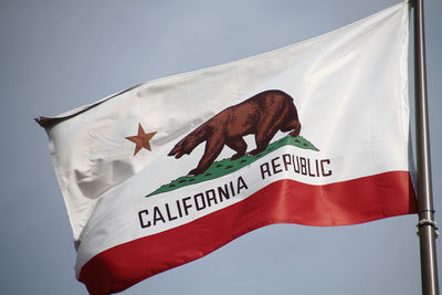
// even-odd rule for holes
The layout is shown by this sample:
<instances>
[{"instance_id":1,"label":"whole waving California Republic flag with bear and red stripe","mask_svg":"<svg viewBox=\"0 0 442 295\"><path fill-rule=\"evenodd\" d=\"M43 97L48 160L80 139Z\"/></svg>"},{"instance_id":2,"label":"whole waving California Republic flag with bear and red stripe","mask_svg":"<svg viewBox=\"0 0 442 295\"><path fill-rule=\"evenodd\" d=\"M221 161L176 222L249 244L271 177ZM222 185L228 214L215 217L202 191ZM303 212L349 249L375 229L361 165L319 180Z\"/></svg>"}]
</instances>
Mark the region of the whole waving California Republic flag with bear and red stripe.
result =
<instances>
[{"instance_id":1,"label":"whole waving California Republic flag with bear and red stripe","mask_svg":"<svg viewBox=\"0 0 442 295\"><path fill-rule=\"evenodd\" d=\"M415 213L408 13L39 118L77 278L115 293L260 226Z\"/></svg>"}]
</instances>

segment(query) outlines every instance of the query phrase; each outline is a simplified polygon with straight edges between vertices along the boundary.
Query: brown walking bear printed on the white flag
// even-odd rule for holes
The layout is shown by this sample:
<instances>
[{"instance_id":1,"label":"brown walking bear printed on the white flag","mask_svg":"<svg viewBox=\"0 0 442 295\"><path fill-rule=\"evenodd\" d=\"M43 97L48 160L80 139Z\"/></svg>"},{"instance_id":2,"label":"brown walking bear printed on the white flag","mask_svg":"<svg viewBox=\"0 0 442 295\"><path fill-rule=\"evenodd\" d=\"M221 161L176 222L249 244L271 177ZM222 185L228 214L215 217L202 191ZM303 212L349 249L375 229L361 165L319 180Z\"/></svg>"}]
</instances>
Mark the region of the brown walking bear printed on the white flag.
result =
<instances>
[{"instance_id":1,"label":"brown walking bear printed on the white flag","mask_svg":"<svg viewBox=\"0 0 442 295\"><path fill-rule=\"evenodd\" d=\"M250 151L254 156L267 148L277 130L292 131L290 135L296 137L301 131L297 110L288 94L277 89L265 91L221 110L182 138L168 156L178 159L207 141L198 167L189 172L196 176L213 164L224 145L236 151L232 160L241 158L248 149L243 136L254 134L256 148Z\"/></svg>"}]
</instances>

